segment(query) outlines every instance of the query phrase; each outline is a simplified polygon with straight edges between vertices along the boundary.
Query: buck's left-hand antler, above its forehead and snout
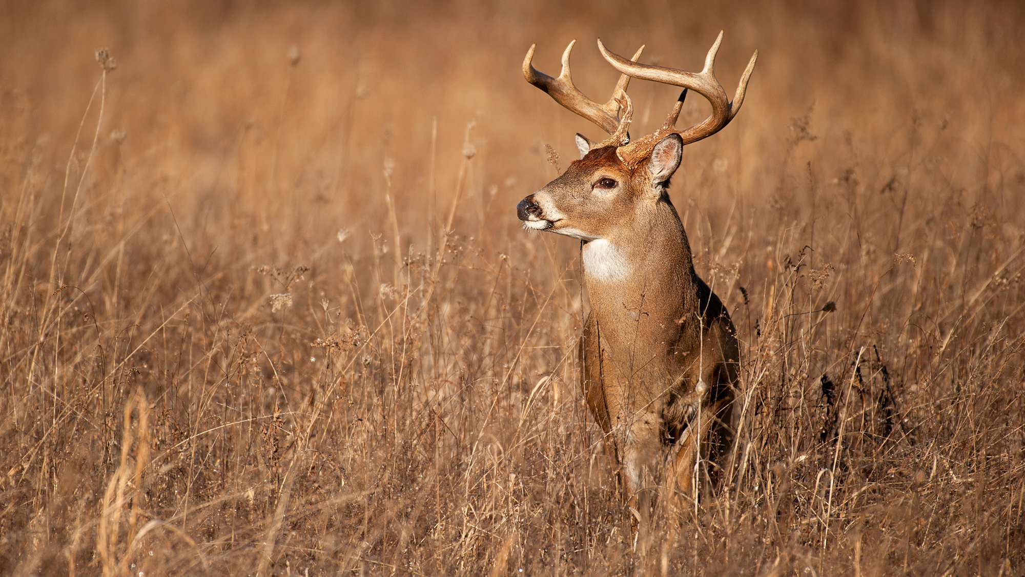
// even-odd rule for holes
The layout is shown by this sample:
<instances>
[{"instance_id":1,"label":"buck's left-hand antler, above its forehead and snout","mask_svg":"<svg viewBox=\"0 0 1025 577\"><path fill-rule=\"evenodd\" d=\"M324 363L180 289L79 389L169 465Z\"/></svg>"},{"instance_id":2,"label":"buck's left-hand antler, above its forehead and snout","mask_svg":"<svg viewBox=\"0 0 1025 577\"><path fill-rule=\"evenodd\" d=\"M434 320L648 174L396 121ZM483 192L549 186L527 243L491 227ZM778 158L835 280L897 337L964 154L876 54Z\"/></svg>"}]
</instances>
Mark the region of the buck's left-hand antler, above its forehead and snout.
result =
<instances>
[{"instance_id":1,"label":"buck's left-hand antler, above its forehead and snout","mask_svg":"<svg viewBox=\"0 0 1025 577\"><path fill-rule=\"evenodd\" d=\"M626 86L630 83L630 77L627 74L619 77L619 82L616 83L616 89L612 92L612 98L609 99L609 102L598 104L591 101L577 89L573 84L573 78L570 77L570 52L573 50L573 44L575 43L576 40L570 42L570 45L566 47L566 51L563 52L563 69L559 73L558 78L552 78L538 72L534 68L531 61L534 57L534 47L537 44L531 44L530 50L527 51L527 57L523 61L523 76L527 79L527 82L547 92L557 103L598 124L606 132L618 136L619 141L617 144L623 144L626 142L626 130L622 127L624 122L621 122L617 118L617 115L620 108L624 106L620 94L625 98ZM633 61L641 57L642 50L644 50L644 46L641 46L637 53L633 54ZM626 62L632 64L630 61ZM628 100L625 102L628 102ZM624 114L623 120L628 125L629 115ZM619 132L622 132L622 134L619 134Z\"/></svg>"}]
</instances>

